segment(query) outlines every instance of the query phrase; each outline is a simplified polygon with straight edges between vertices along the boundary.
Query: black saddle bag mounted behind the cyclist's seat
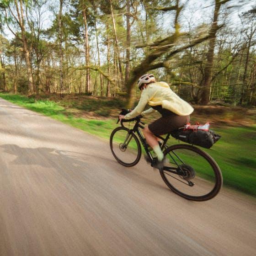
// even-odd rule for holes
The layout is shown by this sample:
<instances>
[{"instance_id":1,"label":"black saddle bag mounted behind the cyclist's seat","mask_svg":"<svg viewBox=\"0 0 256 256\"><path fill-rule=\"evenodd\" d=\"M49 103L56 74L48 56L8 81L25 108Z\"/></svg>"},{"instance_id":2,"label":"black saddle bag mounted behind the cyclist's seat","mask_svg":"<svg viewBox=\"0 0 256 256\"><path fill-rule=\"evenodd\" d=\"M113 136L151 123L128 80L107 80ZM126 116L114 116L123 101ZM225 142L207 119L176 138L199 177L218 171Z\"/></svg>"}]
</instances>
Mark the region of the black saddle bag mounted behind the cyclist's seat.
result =
<instances>
[{"instance_id":1,"label":"black saddle bag mounted behind the cyclist's seat","mask_svg":"<svg viewBox=\"0 0 256 256\"><path fill-rule=\"evenodd\" d=\"M197 145L209 149L220 139L220 135L214 133L212 130L184 130L179 128L171 132L171 136L175 139L187 142L192 145Z\"/></svg>"}]
</instances>

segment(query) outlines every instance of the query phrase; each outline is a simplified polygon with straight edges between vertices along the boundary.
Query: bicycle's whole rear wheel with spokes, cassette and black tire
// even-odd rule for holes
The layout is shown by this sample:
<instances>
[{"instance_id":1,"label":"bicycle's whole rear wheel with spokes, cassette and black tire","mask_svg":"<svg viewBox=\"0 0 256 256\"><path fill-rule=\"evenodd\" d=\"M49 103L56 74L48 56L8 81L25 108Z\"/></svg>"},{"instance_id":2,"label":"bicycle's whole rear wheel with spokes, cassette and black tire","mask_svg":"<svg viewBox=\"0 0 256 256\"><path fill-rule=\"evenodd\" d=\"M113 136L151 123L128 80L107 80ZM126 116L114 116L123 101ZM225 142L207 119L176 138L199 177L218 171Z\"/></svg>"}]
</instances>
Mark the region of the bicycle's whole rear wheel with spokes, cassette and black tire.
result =
<instances>
[{"instance_id":1,"label":"bicycle's whole rear wheel with spokes, cassette and black tire","mask_svg":"<svg viewBox=\"0 0 256 256\"><path fill-rule=\"evenodd\" d=\"M165 149L164 155L169 163L160 174L173 192L193 201L206 201L219 193L222 174L206 152L191 145L178 144Z\"/></svg>"}]
</instances>

